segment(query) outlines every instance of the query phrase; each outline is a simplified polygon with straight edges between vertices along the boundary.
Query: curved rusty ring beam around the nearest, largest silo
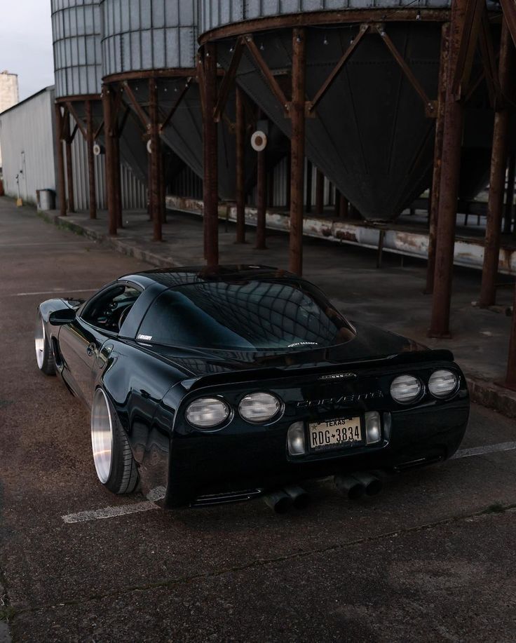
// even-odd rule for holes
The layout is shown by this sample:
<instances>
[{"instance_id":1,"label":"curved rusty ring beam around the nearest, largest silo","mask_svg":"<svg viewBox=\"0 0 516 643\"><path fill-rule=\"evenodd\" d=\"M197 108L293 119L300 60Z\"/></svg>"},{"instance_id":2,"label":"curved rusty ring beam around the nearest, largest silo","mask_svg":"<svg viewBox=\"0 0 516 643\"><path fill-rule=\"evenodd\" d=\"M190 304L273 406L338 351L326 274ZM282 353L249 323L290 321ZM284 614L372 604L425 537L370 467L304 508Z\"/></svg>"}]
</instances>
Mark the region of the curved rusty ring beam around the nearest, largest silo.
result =
<instances>
[{"instance_id":1,"label":"curved rusty ring beam around the nearest, largest silo","mask_svg":"<svg viewBox=\"0 0 516 643\"><path fill-rule=\"evenodd\" d=\"M205 32L199 43L269 31L270 29L292 29L294 27L318 27L320 25L341 25L350 22L446 22L449 20L449 9L427 8L385 8L346 9L344 11L306 11L276 15L271 18L256 18L233 22L217 29Z\"/></svg>"}]
</instances>

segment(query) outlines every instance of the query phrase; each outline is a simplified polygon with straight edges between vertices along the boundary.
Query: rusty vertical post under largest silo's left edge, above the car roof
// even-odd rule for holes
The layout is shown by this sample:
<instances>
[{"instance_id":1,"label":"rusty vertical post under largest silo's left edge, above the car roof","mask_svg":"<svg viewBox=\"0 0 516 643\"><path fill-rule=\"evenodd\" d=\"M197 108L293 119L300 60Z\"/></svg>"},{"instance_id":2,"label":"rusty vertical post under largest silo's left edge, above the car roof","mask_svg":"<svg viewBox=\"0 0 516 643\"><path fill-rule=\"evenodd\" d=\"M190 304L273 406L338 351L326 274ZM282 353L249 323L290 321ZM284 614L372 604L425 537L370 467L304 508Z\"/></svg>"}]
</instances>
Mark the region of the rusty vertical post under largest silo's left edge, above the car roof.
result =
<instances>
[{"instance_id":1,"label":"rusty vertical post under largest silo's left edge, above the car roof","mask_svg":"<svg viewBox=\"0 0 516 643\"><path fill-rule=\"evenodd\" d=\"M214 119L217 103L217 48L215 43L204 46L204 218L205 252L208 266L219 264L219 174L217 152L217 123Z\"/></svg>"}]
</instances>

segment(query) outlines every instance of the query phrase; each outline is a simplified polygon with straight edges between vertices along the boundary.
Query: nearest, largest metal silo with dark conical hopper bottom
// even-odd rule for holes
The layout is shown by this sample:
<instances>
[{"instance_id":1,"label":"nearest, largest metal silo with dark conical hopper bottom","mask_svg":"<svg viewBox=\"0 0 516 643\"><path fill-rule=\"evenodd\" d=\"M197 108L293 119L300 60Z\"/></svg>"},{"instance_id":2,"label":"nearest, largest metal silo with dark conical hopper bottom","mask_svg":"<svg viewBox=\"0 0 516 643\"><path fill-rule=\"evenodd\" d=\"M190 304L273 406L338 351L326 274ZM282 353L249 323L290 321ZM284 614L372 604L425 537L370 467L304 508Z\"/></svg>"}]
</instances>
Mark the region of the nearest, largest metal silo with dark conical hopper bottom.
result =
<instances>
[{"instance_id":1,"label":"nearest, largest metal silo with dark conical hopper bottom","mask_svg":"<svg viewBox=\"0 0 516 643\"><path fill-rule=\"evenodd\" d=\"M432 176L435 121L386 43L390 39L428 99L435 99L441 25L449 19L449 1L419 1L412 20L402 18L404 6L393 0L201 0L200 5L201 41L217 41L219 63L228 69L236 36L252 33L287 101L293 26L306 27L306 94L312 100L346 49L358 41L361 23L369 25L318 103L315 118L306 119L306 156L367 219L395 219L429 187ZM247 49L237 81L290 136L285 106ZM491 111L486 114L489 130ZM484 155L478 162L483 174Z\"/></svg>"}]
</instances>

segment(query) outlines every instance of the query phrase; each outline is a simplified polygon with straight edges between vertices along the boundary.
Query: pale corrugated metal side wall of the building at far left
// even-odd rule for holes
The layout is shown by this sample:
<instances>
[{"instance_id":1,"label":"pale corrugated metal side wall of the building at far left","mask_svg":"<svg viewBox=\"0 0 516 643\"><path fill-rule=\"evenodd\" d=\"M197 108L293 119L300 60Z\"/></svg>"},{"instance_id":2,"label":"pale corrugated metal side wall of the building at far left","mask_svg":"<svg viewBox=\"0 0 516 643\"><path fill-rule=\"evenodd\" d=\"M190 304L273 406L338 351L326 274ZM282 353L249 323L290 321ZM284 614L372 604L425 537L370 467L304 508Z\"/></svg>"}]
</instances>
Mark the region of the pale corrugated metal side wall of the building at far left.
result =
<instances>
[{"instance_id":1,"label":"pale corrugated metal side wall of the building at far left","mask_svg":"<svg viewBox=\"0 0 516 643\"><path fill-rule=\"evenodd\" d=\"M36 190L55 189L53 87L0 114L4 189L9 196L36 202Z\"/></svg>"}]
</instances>

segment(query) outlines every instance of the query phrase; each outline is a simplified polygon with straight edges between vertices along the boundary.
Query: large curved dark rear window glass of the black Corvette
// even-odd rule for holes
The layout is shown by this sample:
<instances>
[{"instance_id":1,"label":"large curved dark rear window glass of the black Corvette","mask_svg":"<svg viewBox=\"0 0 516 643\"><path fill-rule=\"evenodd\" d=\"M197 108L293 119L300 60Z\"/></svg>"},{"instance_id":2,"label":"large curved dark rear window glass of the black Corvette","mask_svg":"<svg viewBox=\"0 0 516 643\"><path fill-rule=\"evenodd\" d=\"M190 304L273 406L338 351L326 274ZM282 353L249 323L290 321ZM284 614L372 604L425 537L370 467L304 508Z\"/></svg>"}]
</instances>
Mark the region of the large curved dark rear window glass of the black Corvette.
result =
<instances>
[{"instance_id":1,"label":"large curved dark rear window glass of the black Corvette","mask_svg":"<svg viewBox=\"0 0 516 643\"><path fill-rule=\"evenodd\" d=\"M346 319L308 284L182 285L147 311L137 339L232 351L310 350L353 337Z\"/></svg>"}]
</instances>

